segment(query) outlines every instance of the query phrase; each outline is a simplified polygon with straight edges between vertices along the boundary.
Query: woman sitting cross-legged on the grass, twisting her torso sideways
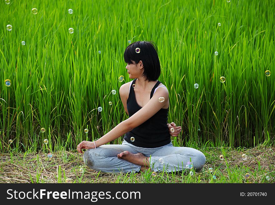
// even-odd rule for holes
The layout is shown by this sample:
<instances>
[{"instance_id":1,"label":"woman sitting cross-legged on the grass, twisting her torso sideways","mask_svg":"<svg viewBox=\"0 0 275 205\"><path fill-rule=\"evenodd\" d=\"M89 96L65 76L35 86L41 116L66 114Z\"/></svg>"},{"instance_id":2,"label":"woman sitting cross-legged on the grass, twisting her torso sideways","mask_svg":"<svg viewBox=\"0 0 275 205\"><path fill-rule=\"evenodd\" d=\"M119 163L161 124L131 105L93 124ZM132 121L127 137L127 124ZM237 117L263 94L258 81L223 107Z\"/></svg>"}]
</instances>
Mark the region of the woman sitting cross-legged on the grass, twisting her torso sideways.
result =
<instances>
[{"instance_id":1,"label":"woman sitting cross-legged on the grass, twisting her torso sideways","mask_svg":"<svg viewBox=\"0 0 275 205\"><path fill-rule=\"evenodd\" d=\"M138 48L138 49L137 49ZM191 163L200 170L205 156L197 149L174 147L170 136L178 136L181 127L167 124L169 93L158 81L160 62L158 48L151 41L137 41L124 52L131 82L123 84L119 94L129 115L100 139L82 141L77 150L84 153L84 163L101 172L139 172L150 168L157 172L182 171ZM173 132L173 128L175 131ZM122 144L106 144L124 136ZM105 145L106 144L106 145Z\"/></svg>"}]
</instances>

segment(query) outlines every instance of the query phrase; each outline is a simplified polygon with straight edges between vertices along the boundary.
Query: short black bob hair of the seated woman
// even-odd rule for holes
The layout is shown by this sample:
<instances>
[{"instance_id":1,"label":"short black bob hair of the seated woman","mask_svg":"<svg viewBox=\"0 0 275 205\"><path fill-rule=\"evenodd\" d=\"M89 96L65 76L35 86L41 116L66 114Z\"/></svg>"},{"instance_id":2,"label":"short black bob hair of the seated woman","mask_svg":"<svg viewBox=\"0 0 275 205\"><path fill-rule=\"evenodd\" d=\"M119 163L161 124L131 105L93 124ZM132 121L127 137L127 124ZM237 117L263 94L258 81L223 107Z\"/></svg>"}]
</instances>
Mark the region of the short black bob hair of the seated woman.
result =
<instances>
[{"instance_id":1,"label":"short black bob hair of the seated woman","mask_svg":"<svg viewBox=\"0 0 275 205\"><path fill-rule=\"evenodd\" d=\"M136 48L140 48L140 53L136 53ZM130 44L124 51L124 61L135 65L142 61L142 76L146 81L156 81L160 76L158 47L153 41L137 41Z\"/></svg>"}]
</instances>

